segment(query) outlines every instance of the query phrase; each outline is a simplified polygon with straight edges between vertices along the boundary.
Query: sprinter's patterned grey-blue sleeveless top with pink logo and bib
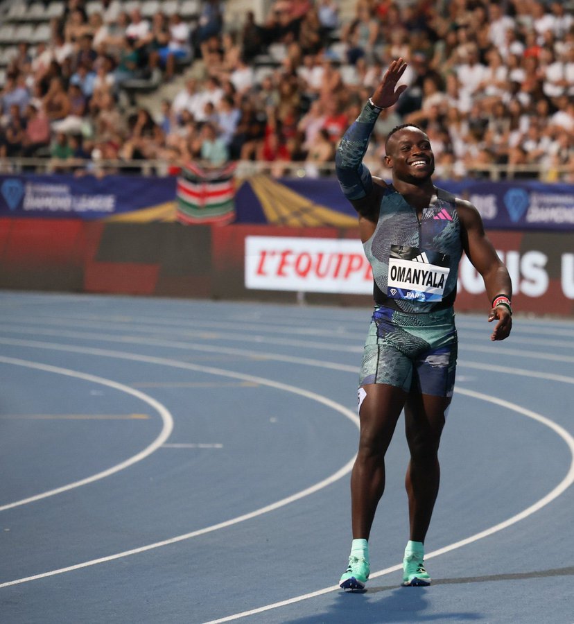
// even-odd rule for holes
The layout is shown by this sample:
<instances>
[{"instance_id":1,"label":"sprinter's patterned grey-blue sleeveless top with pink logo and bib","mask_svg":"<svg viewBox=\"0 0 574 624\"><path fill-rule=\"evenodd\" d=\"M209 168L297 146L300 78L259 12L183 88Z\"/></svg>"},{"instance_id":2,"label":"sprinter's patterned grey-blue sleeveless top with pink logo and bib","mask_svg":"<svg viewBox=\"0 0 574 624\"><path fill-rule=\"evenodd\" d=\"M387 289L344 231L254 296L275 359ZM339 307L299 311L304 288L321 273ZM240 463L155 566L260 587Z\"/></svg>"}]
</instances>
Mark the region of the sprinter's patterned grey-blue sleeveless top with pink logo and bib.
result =
<instances>
[{"instance_id":1,"label":"sprinter's patterned grey-blue sleeveless top with pink logo and bib","mask_svg":"<svg viewBox=\"0 0 574 624\"><path fill-rule=\"evenodd\" d=\"M363 248L373 270L376 304L408 313L453 305L462 241L451 193L437 189L419 220L415 208L388 187L374 234Z\"/></svg>"}]
</instances>

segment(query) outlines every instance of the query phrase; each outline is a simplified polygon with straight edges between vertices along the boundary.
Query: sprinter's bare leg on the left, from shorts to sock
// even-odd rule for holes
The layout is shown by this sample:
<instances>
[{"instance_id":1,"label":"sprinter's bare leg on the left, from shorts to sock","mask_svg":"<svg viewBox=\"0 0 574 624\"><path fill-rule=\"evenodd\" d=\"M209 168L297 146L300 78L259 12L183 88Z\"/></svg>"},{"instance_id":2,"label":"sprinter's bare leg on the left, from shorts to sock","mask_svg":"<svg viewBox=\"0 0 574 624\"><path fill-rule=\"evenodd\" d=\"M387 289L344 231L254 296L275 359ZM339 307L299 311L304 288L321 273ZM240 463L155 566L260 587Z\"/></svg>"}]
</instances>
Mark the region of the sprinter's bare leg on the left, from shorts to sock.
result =
<instances>
[{"instance_id":1,"label":"sprinter's bare leg on the left, from shorts to sock","mask_svg":"<svg viewBox=\"0 0 574 624\"><path fill-rule=\"evenodd\" d=\"M382 383L363 385L358 454L351 474L351 515L354 539L369 539L385 489L385 453L403 409L406 392Z\"/></svg>"}]
</instances>

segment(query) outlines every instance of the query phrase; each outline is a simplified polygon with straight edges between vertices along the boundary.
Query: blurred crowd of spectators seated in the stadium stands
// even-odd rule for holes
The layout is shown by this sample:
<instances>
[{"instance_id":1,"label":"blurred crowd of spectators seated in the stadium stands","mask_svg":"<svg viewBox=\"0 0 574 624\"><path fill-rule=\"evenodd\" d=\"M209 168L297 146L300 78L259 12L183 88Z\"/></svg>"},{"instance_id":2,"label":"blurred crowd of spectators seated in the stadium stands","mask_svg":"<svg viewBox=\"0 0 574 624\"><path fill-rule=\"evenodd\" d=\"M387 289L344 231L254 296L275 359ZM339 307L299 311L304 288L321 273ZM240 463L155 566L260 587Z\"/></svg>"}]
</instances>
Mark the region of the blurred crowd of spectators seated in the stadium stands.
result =
<instances>
[{"instance_id":1,"label":"blurred crowd of spectators seated in the stadium stands","mask_svg":"<svg viewBox=\"0 0 574 624\"><path fill-rule=\"evenodd\" d=\"M356 0L341 20L338 0L273 0L261 23L249 12L242 24L226 19L223 0L202 0L193 22L121 8L68 0L49 42L33 54L19 43L0 93L0 157L96 173L114 171L102 160L160 159L177 171L232 159L321 175L402 56L410 88L381 112L365 158L374 173L386 175L387 133L415 123L439 175L530 166L521 175L574 180L574 17L562 2ZM126 98L134 80L161 97L182 68L193 77L157 118Z\"/></svg>"}]
</instances>

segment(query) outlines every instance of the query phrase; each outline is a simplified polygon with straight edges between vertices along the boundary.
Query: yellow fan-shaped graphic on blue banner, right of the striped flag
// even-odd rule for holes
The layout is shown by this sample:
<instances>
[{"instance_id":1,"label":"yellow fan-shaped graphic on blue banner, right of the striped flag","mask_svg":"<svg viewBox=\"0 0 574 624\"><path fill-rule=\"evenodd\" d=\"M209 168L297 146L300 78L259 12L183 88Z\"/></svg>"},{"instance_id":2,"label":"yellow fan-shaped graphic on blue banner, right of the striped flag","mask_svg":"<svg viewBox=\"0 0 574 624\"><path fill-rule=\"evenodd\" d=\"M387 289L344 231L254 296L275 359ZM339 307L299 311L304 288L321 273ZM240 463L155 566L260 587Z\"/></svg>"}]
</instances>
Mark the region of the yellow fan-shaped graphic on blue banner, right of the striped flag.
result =
<instances>
[{"instance_id":1,"label":"yellow fan-shaped graphic on blue banner, right of the striped flag","mask_svg":"<svg viewBox=\"0 0 574 624\"><path fill-rule=\"evenodd\" d=\"M356 227L357 225L356 217L315 204L266 175L254 175L248 181L261 202L268 223L272 225L295 227L321 225Z\"/></svg>"}]
</instances>

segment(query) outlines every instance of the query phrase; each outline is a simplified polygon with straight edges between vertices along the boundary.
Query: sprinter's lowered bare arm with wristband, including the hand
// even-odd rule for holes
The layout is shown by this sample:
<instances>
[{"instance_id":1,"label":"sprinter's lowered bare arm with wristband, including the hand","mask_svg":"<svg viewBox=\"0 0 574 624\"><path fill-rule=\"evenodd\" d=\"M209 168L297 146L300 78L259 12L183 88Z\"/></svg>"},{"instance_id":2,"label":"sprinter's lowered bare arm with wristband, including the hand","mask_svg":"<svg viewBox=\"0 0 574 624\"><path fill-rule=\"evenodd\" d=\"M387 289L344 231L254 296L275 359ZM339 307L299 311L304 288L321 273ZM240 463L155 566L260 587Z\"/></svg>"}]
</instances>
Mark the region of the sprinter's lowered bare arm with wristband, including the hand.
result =
<instances>
[{"instance_id":1,"label":"sprinter's lowered bare arm with wristband, including the hand","mask_svg":"<svg viewBox=\"0 0 574 624\"><path fill-rule=\"evenodd\" d=\"M498 257L496 250L485 233L482 218L478 210L464 200L456 200L456 208L460 220L462 247L468 259L485 281L489 301L493 302L497 295L506 295L512 299L512 281L507 268ZM489 322L498 320L491 340L504 340L512 329L512 312L507 306L498 305L490 311Z\"/></svg>"}]
</instances>

